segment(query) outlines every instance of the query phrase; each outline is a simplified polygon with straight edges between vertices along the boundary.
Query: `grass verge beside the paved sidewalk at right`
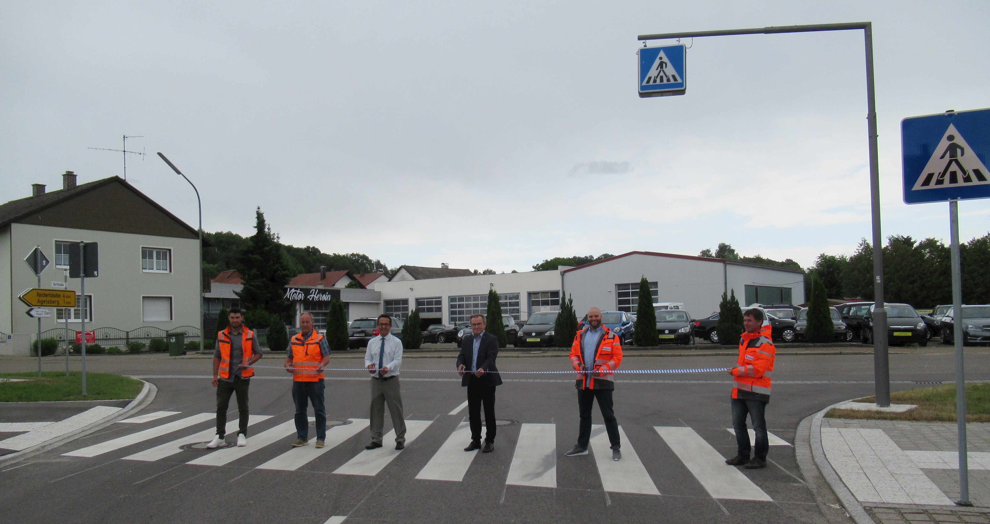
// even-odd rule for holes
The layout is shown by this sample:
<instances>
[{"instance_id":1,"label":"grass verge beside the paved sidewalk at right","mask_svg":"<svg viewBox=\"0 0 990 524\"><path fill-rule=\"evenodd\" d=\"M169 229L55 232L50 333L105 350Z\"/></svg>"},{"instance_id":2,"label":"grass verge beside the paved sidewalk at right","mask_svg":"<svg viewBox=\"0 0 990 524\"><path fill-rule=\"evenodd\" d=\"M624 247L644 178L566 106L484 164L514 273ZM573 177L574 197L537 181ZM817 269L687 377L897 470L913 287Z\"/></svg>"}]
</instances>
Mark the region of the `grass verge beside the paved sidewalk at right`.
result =
<instances>
[{"instance_id":1,"label":"grass verge beside the paved sidewalk at right","mask_svg":"<svg viewBox=\"0 0 990 524\"><path fill-rule=\"evenodd\" d=\"M876 402L875 396L856 398L857 402ZM825 414L831 418L860 418L869 420L916 420L923 422L955 422L955 385L935 388L919 388L890 393L891 403L918 404L903 413L883 411L859 411L857 409L830 409ZM966 421L990 422L990 384L966 385Z\"/></svg>"}]
</instances>

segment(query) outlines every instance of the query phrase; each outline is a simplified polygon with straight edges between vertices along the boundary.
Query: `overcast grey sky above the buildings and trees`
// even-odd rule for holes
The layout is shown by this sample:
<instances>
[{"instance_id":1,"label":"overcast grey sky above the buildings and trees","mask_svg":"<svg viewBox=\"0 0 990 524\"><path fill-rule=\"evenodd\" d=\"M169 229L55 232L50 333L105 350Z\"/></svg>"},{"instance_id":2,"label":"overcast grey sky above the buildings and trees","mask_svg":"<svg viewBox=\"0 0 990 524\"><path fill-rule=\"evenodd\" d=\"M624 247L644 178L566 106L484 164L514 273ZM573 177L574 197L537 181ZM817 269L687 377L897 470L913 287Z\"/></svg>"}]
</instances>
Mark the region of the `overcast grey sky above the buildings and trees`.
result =
<instances>
[{"instance_id":1,"label":"overcast grey sky above the buildings and trees","mask_svg":"<svg viewBox=\"0 0 990 524\"><path fill-rule=\"evenodd\" d=\"M122 174L206 230L389 266L526 271L631 250L851 253L870 237L862 32L695 39L685 96L637 96L646 33L872 21L883 233L900 121L990 107L990 3L3 2L0 193ZM654 43L656 44L656 43ZM964 239L990 202L960 205Z\"/></svg>"}]
</instances>

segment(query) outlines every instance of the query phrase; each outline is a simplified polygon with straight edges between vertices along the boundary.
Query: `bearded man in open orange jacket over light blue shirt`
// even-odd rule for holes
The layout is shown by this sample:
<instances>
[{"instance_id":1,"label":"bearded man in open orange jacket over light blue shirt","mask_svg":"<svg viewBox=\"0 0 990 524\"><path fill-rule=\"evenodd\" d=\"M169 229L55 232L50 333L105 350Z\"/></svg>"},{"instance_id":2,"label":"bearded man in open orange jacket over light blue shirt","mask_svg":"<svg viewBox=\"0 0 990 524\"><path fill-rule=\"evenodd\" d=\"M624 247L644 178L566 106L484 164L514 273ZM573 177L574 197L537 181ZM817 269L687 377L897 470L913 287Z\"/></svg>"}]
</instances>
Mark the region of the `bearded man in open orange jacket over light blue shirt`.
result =
<instances>
[{"instance_id":1,"label":"bearded man in open orange jacket over light blue shirt","mask_svg":"<svg viewBox=\"0 0 990 524\"><path fill-rule=\"evenodd\" d=\"M598 408L605 419L605 430L609 434L612 447L612 460L621 461L619 451L619 421L612 408L612 392L615 390L613 371L622 362L622 344L619 337L602 325L602 311L598 307L588 309L588 324L577 332L570 346L570 363L577 371L577 408L580 426L577 444L564 453L567 457L588 454L591 439L591 406L598 400Z\"/></svg>"}]
</instances>

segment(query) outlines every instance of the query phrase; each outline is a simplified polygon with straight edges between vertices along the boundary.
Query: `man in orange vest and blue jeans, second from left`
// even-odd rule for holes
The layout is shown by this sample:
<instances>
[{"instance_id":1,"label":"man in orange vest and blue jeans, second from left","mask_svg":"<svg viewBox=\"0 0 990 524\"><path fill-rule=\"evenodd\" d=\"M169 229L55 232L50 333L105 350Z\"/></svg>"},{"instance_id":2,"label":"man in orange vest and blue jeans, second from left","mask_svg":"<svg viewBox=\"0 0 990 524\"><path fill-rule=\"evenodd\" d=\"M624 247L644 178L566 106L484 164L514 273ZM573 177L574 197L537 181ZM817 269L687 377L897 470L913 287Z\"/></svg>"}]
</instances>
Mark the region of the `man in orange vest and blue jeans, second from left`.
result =
<instances>
[{"instance_id":1,"label":"man in orange vest and blue jeans, second from left","mask_svg":"<svg viewBox=\"0 0 990 524\"><path fill-rule=\"evenodd\" d=\"M292 374L292 400L296 404L296 441L293 448L309 444L307 400L313 404L316 416L316 447L327 440L327 408L324 407L323 369L330 364L327 339L313 329L313 315L299 316L300 333L293 336L285 355L285 371Z\"/></svg>"}]
</instances>

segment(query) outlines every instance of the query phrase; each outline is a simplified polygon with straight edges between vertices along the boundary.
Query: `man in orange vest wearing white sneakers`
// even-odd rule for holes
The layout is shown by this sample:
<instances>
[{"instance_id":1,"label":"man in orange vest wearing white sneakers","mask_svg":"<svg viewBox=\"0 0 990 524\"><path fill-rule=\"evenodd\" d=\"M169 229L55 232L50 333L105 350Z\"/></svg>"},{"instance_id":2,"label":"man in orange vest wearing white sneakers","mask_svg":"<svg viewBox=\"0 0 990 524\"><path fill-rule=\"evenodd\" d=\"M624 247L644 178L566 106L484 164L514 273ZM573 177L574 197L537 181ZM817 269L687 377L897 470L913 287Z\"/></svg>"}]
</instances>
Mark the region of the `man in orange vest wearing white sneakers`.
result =
<instances>
[{"instance_id":1,"label":"man in orange vest wearing white sneakers","mask_svg":"<svg viewBox=\"0 0 990 524\"><path fill-rule=\"evenodd\" d=\"M217 346L213 350L213 387L217 389L217 437L206 445L219 448L225 443L227 408L231 394L238 395L238 446L247 446L247 388L254 369L250 368L261 358L261 347L253 329L244 325L244 315L238 307L231 307L228 315L231 325L217 333Z\"/></svg>"}]
</instances>

